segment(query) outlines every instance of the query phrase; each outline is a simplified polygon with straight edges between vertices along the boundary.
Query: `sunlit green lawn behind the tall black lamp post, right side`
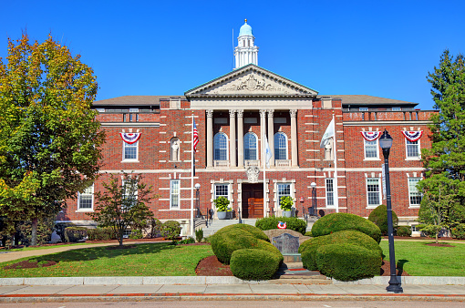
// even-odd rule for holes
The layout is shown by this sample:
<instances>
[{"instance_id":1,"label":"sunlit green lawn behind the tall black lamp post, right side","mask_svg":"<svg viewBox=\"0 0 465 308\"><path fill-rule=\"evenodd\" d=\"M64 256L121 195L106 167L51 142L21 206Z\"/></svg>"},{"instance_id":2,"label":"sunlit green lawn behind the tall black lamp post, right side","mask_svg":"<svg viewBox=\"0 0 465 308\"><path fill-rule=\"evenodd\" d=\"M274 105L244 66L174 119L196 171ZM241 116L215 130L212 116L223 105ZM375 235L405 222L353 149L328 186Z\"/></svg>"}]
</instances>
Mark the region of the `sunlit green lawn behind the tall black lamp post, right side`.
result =
<instances>
[{"instance_id":1,"label":"sunlit green lawn behind the tall black lamp post, right side","mask_svg":"<svg viewBox=\"0 0 465 308\"><path fill-rule=\"evenodd\" d=\"M398 268L412 276L465 276L465 242L449 242L454 247L427 246L430 242L394 241ZM387 240L380 246L389 260Z\"/></svg>"}]
</instances>

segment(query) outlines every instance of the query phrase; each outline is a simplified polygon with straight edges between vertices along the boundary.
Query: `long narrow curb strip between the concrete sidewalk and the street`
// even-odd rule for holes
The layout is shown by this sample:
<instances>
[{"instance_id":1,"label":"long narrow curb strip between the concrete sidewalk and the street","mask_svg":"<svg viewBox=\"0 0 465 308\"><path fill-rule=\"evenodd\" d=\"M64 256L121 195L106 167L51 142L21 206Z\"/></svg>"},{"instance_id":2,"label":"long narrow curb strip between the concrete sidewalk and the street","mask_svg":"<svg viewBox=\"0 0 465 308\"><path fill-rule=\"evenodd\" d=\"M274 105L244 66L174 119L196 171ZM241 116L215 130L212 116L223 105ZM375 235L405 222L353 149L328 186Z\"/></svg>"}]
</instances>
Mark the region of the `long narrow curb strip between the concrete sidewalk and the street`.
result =
<instances>
[{"instance_id":1,"label":"long narrow curb strip between the concrete sidewalk and the street","mask_svg":"<svg viewBox=\"0 0 465 308\"><path fill-rule=\"evenodd\" d=\"M429 301L429 302L463 302L463 295L403 295L403 294L369 294L369 295L319 295L319 294L121 294L121 295L2 295L0 303L63 303L63 302L162 302L162 301Z\"/></svg>"}]
</instances>

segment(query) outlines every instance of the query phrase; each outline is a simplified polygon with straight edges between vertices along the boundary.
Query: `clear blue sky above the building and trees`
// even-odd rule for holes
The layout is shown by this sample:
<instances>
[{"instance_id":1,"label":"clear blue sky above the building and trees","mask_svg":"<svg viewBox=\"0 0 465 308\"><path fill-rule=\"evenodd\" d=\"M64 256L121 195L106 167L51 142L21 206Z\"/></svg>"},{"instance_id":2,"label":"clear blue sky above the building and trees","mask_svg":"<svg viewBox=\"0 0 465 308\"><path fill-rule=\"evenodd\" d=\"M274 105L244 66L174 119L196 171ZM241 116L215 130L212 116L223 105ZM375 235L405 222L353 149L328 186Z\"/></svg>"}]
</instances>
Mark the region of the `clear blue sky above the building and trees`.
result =
<instances>
[{"instance_id":1,"label":"clear blue sky above the building and trees","mask_svg":"<svg viewBox=\"0 0 465 308\"><path fill-rule=\"evenodd\" d=\"M15 1L7 37L51 33L93 67L98 99L183 95L233 68L243 19L258 64L322 95L366 94L431 109L426 76L465 53L465 1ZM233 37L234 31L234 37Z\"/></svg>"}]
</instances>

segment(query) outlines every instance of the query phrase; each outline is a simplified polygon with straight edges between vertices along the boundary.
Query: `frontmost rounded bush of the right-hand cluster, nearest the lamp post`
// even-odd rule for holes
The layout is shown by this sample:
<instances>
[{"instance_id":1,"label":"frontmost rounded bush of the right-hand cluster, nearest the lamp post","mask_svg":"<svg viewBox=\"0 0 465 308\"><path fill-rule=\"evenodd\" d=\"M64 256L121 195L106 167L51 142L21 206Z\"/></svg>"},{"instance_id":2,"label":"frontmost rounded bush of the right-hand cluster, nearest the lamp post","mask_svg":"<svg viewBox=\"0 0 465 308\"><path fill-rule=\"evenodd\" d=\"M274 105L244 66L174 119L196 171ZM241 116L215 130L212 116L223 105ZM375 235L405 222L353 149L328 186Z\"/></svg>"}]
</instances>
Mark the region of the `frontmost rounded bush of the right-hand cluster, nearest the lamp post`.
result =
<instances>
[{"instance_id":1,"label":"frontmost rounded bush of the right-hand cluster, nearest the lamp post","mask_svg":"<svg viewBox=\"0 0 465 308\"><path fill-rule=\"evenodd\" d=\"M347 243L325 245L316 251L319 271L342 282L379 275L381 262L377 251Z\"/></svg>"}]
</instances>

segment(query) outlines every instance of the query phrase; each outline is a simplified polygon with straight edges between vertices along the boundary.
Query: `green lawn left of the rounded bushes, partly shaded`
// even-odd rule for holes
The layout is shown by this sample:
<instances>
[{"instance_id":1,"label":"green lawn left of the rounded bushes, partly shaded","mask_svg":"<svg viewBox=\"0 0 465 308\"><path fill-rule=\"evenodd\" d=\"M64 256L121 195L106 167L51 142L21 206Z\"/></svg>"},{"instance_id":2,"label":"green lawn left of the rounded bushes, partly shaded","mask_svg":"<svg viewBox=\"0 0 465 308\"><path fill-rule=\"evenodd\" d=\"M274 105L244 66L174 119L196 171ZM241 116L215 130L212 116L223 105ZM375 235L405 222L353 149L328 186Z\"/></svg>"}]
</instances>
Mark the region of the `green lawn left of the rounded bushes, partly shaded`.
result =
<instances>
[{"instance_id":1,"label":"green lawn left of the rounded bushes, partly shaded","mask_svg":"<svg viewBox=\"0 0 465 308\"><path fill-rule=\"evenodd\" d=\"M213 254L210 245L147 243L134 246L122 250L109 250L109 246L86 248L4 262L0 263L0 277L195 276L198 262ZM58 263L36 269L3 269L5 265L24 260Z\"/></svg>"}]
</instances>

